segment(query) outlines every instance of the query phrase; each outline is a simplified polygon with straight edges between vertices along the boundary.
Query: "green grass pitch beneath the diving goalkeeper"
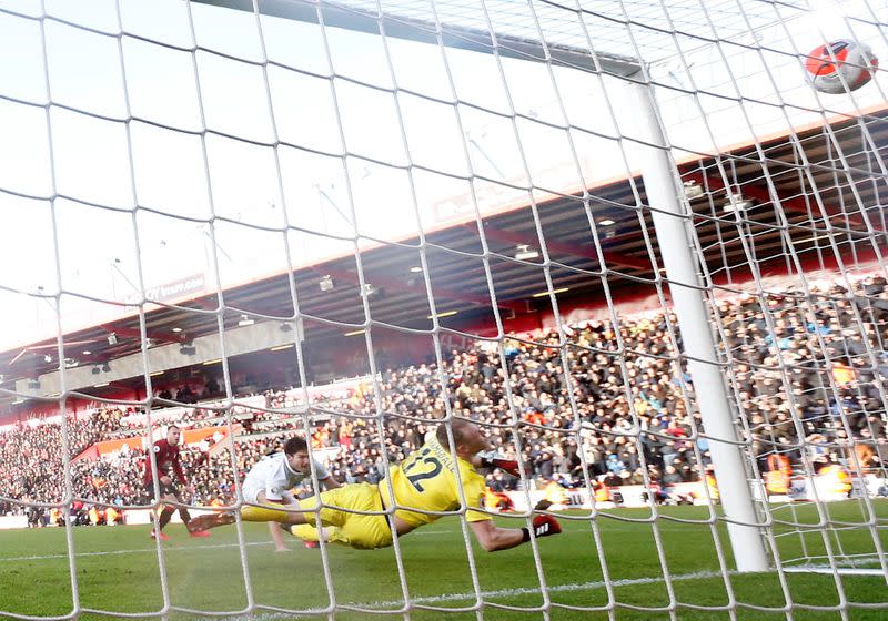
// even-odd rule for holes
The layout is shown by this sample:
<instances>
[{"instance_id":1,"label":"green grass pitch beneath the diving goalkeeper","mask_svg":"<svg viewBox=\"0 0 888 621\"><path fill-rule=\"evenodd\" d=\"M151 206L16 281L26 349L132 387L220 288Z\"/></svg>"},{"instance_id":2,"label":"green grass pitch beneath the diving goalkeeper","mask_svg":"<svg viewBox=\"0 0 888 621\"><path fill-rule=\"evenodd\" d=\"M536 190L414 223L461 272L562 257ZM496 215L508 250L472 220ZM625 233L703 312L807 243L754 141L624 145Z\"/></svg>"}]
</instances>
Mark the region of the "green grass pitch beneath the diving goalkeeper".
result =
<instances>
[{"instance_id":1,"label":"green grass pitch beneath the diving goalkeeper","mask_svg":"<svg viewBox=\"0 0 888 621\"><path fill-rule=\"evenodd\" d=\"M881 522L888 518L888 502L876 501ZM814 523L814 507L800 507L801 521ZM855 502L829 506L830 518L848 522L862 520ZM677 603L672 618L709 620L731 619L730 597L719 574L715 542L705 523L677 520L703 520L705 507L664 508L665 518L657 522L670 582L663 580L664 570L657 556L657 542L650 523L627 521L646 517L646 510L615 509L597 518L598 535L605 550L612 588L606 588L595 538L588 520L563 520L565 532L538 541L539 560L546 591L531 546L496 553L485 553L474 543L473 557L477 584L465 552L460 521L445 518L401 540L404 561L402 583L392 549L356 551L329 547L330 564L324 567L320 550L305 549L295 539L291 551L275 553L265 525L244 525L248 543L246 566L241 562L235 527L213 531L209 539L186 537L184 527L171 525L172 540L164 542L163 564L170 604L169 619L208 620L221 618L250 619L238 611L249 605L244 576L252 584L252 600L260 608L253 619L310 618L294 617L280 609L321 611L335 600L336 619L404 619L406 589L412 600L410 619L475 619L476 589L484 593L484 619L670 619L670 602ZM572 512L569 517L579 518ZM789 513L778 511L780 518ZM669 519L675 518L675 519ZM502 526L519 527L522 520L497 518ZM777 526L777 531L788 527ZM719 527L719 539L730 554L726 535ZM148 527L80 527L72 531L77 553L77 589L81 619L115 619L120 613L158 612L164 601L160 560ZM888 547L888 530L878 531L881 544ZM823 552L823 538L813 532L805 537L809 554ZM846 553L865 553L875 549L870 530L842 531L839 536ZM831 539L836 543L835 538ZM779 538L785 558L799 556L801 538ZM67 553L64 529L0 531L0 618L2 612L18 615L61 617L73 610L73 587ZM332 577L330 588L325 572ZM737 607L737 619L786 619L784 590L776 572L731 574L733 597L743 604L766 607L761 611ZM811 573L786 574L787 589L796 605L791 619L841 619L836 612L805 607L831 607L840 602L839 588L831 576ZM884 577L842 576L841 591L850 605L847 618L855 620L888 619L888 609L871 604L888 602ZM613 613L606 608L613 602ZM542 612L551 603L548 617ZM599 611L576 610L577 607ZM646 607L656 610L637 610ZM725 607L723 610L698 610L694 607ZM355 610L357 608L357 610ZM213 614L183 610L212 611ZM363 610L362 610L363 609ZM446 610L442 610L446 609ZM110 611L94 614L91 610ZM371 612L372 610L372 612ZM385 611L393 611L385 613ZM321 613L314 618L326 619ZM137 617L140 618L140 617Z\"/></svg>"}]
</instances>

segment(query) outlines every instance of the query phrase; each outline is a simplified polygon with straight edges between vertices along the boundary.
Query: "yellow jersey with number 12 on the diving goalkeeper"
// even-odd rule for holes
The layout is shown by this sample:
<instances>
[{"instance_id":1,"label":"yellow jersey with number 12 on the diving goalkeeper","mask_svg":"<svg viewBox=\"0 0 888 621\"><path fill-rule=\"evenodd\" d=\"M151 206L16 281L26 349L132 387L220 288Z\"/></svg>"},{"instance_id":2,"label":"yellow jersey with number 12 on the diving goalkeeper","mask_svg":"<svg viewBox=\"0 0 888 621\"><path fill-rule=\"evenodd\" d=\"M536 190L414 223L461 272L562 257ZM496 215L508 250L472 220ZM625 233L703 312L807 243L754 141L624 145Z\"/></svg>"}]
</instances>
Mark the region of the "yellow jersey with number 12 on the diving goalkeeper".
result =
<instances>
[{"instance_id":1,"label":"yellow jersey with number 12 on the diving goalkeeper","mask_svg":"<svg viewBox=\"0 0 888 621\"><path fill-rule=\"evenodd\" d=\"M456 458L460 477L467 503L466 520L477 522L492 519L487 513L473 511L481 509L484 499L484 477L478 475L472 465ZM454 458L441 446L434 436L418 450L413 451L400 466L392 466L390 475L392 489L398 507L410 507L424 511L454 511L460 509L460 488L456 480ZM385 506L391 507L389 483L380 482L380 493ZM441 516L417 513L398 509L395 515L405 522L416 527L431 523Z\"/></svg>"}]
</instances>

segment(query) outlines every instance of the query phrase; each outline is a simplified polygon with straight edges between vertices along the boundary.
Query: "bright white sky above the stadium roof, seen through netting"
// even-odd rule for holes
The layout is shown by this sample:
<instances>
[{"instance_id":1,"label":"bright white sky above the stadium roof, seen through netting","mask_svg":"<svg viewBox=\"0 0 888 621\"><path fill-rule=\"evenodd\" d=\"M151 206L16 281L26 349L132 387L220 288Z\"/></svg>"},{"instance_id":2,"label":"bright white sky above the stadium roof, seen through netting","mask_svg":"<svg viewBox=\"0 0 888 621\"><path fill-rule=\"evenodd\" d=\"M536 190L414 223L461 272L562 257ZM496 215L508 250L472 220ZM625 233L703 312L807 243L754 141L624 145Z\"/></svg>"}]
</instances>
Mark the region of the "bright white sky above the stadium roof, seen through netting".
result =
<instances>
[{"instance_id":1,"label":"bright white sky above the stadium roof, seen through netting","mask_svg":"<svg viewBox=\"0 0 888 621\"><path fill-rule=\"evenodd\" d=\"M855 10L867 7L861 2L845 4ZM109 33L119 30L117 7L112 0L46 2L49 16ZM391 89L394 73L401 89L446 101L453 96L452 80L460 100L477 106L460 106L461 130L452 105L402 94L397 98L398 111L391 93L337 79L337 116L331 82L325 78L330 67L319 27L262 18L261 39L252 14L191 6L198 44L248 61L239 62L203 51L192 55L169 48L188 49L193 44L188 7L181 0L125 0L120 7L123 30L133 35L122 42L58 20L44 20L46 67L41 21L0 13L3 286L28 293L43 287L48 294L61 286L65 292L122 302L138 291L140 265L145 287L204 273L212 286L215 276L210 267L212 246L205 221L213 213L269 227L282 227L286 214L291 225L315 233L350 236L356 230L362 235L394 240L415 232L420 225L431 227L458 215L454 213L456 207L441 205L447 197L465 195L468 185L447 174L467 176L474 172L528 184L522 154L533 171L533 182L544 187L572 187L581 181L626 173L619 143L593 135L617 135L607 112L607 98L624 119L622 131L632 132L632 110L622 99L625 89L615 81L608 81L606 98L596 78L556 68L556 92L545 65L506 59L506 90L490 55L448 50L448 72L438 48L396 39L387 40L390 69L379 37L327 29L330 61L336 75ZM0 9L36 14L39 6L26 0L0 0ZM834 27L836 20L820 22ZM781 32L776 28L763 30L765 42L786 49ZM821 35L816 33L806 37L795 43L808 49L821 42ZM271 61L299 71L269 65L266 79L262 65L251 64L262 61L263 40ZM720 57L713 50L694 54L699 68L694 75L697 86L729 92L733 83L716 69ZM767 91L768 84L754 79L760 75L760 68L755 62L746 65L748 55L743 57L743 67L735 68L737 79L745 81L745 92ZM780 59L780 67L787 65L785 60ZM675 77L675 67L667 62L657 71L668 82L667 74L673 72ZM810 92L797 67L786 71L791 72L786 92L796 93L799 102L810 104ZM680 75L675 81L683 86L687 82ZM875 89L874 92L879 95ZM20 103L43 104L50 99L58 104L49 115L51 140L46 109ZM666 106L664 118L670 120L667 125L678 128L676 136L687 141L688 146L710 147L696 109L674 93L664 92L660 99ZM571 133L572 151L564 131L518 121L516 139L508 116L488 112L508 115L511 105L519 113L556 124L564 124L566 115L569 123L588 132ZM728 110L724 100L714 99L703 105L714 119L725 115L726 129L719 141L749 140L748 132L744 133L735 122L737 111ZM208 134L205 153L200 135L193 133L202 129L201 108L208 128L235 136ZM89 114L144 122L127 125ZM763 128L777 123L771 130L775 131L785 126L780 114L771 109L755 114L760 116L756 123ZM687 131L682 130L683 123ZM280 141L301 149L281 146L275 161L273 149L235 140L273 142L275 128ZM735 131L739 133L735 135ZM54 169L50 165L50 144ZM465 157L466 147L470 161ZM344 152L351 155L346 170L342 159L335 156ZM410 163L443 174L415 170L408 175L404 166ZM53 174L58 194L111 208L57 200L58 233L53 241L49 203L14 195L50 196ZM483 208L526 197L502 187L496 195L484 194L485 185L487 190L496 186L481 185ZM164 215L133 212L137 204ZM354 225L350 222L350 205L356 213ZM283 240L281 233L216 222L219 277L223 286L283 272ZM349 243L319 234L291 232L289 240L294 265L351 250ZM58 256L53 248L58 248ZM57 278L57 258L61 283ZM62 299L65 330L121 313L119 306L72 296ZM0 328L0 349L56 333L50 301L0 292L0 304L4 315L14 318L3 322Z\"/></svg>"}]
</instances>

